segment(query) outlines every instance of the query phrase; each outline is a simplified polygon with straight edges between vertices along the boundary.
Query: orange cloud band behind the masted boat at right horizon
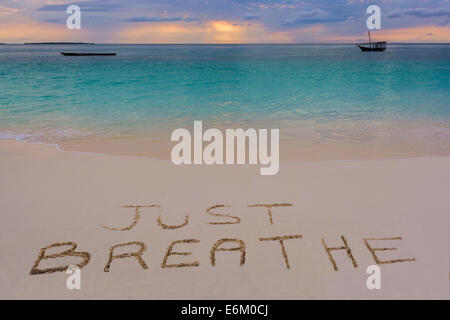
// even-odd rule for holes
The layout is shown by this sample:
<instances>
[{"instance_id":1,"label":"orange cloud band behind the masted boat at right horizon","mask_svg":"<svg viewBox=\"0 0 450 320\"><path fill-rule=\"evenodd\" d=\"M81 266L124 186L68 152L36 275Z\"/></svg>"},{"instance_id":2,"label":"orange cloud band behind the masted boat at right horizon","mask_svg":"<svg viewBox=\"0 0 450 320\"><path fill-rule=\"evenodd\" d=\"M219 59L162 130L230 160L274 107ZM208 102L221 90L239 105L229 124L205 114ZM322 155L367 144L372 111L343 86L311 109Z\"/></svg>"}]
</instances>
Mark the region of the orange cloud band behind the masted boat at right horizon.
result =
<instances>
[{"instance_id":1,"label":"orange cloud band behind the masted boat at right horizon","mask_svg":"<svg viewBox=\"0 0 450 320\"><path fill-rule=\"evenodd\" d=\"M360 36L331 36L320 40L330 42L359 42L367 35ZM419 26L412 28L378 30L372 33L373 41L390 42L450 42L450 27L447 26Z\"/></svg>"}]
</instances>

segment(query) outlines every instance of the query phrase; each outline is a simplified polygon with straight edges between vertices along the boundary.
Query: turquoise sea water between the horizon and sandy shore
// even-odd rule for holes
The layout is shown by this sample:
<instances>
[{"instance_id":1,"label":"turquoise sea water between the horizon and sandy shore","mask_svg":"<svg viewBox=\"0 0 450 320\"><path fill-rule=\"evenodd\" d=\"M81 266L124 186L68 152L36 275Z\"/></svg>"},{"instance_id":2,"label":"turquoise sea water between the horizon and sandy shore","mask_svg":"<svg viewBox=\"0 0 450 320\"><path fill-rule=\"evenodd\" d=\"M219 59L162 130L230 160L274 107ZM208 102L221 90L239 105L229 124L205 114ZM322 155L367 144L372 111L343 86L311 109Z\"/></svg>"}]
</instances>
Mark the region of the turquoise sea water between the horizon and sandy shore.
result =
<instances>
[{"instance_id":1,"label":"turquoise sea water between the horizon and sandy shore","mask_svg":"<svg viewBox=\"0 0 450 320\"><path fill-rule=\"evenodd\" d=\"M2 45L0 136L152 135L203 120L311 143L435 144L450 138L449 80L450 45Z\"/></svg>"}]
</instances>

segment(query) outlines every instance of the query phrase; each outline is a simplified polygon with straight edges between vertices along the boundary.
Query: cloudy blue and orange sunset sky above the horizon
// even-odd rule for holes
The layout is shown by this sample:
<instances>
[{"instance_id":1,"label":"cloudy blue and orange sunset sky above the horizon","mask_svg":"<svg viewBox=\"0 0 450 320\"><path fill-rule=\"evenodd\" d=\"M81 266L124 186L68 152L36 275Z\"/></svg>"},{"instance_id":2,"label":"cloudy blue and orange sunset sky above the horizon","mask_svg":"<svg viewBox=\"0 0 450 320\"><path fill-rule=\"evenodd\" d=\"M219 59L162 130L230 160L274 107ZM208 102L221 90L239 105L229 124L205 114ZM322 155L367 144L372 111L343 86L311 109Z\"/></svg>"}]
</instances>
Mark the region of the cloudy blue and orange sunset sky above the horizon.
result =
<instances>
[{"instance_id":1,"label":"cloudy blue and orange sunset sky above the horizon","mask_svg":"<svg viewBox=\"0 0 450 320\"><path fill-rule=\"evenodd\" d=\"M450 0L0 0L0 42L354 43L372 4L374 40L450 43Z\"/></svg>"}]
</instances>

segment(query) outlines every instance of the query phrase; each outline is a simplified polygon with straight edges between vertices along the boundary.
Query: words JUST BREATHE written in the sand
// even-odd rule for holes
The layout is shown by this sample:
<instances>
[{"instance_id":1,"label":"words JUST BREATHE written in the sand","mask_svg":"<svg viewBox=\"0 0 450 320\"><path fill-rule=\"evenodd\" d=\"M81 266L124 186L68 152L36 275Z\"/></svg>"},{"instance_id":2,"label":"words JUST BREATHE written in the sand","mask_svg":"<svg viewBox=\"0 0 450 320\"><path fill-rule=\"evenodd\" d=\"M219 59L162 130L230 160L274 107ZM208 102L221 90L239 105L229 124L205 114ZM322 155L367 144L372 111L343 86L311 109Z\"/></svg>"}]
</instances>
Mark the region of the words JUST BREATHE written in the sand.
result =
<instances>
[{"instance_id":1,"label":"words JUST BREATHE written in the sand","mask_svg":"<svg viewBox=\"0 0 450 320\"><path fill-rule=\"evenodd\" d=\"M260 208L261 212L267 216L268 223L270 225L274 224L273 211L282 210L286 207L292 207L292 203L259 203L259 204L249 204L250 208ZM150 208L160 208L161 206L158 204L151 205L125 205L122 208L127 208L132 210L133 218L130 223L123 227L110 227L110 226L101 226L103 229L109 231L119 231L119 232L127 232L132 230L140 221L141 211L144 209ZM237 216L233 216L226 213L221 213L226 208L230 206L217 204L211 206L206 209L206 214L208 216L214 217L214 221L208 222L209 225L232 225L232 224L240 224L241 218ZM186 214L184 217L184 221L182 221L178 225L169 225L163 222L163 217L159 215L156 219L156 222L160 228L163 230L175 230L181 229L189 224L190 216ZM289 252L286 248L286 243L290 241L301 241L303 239L303 235L300 233L294 234L276 234L266 237L259 237L258 240L261 245L265 245L269 242L275 243L279 246L279 250L281 255L279 256L280 265L285 269L290 269L291 264L289 262ZM391 260L384 260L380 257L381 252L396 250L397 248L387 248L381 246L383 241L392 241L392 240L403 240L399 235L392 235L390 237L367 237L362 238L360 245L363 245L370 255L372 256L374 263L381 264L393 264L393 263L402 263L402 262L413 262L415 258L396 258ZM189 257L192 255L192 252L189 251L189 246L195 246L201 240L196 238L188 238L188 239L178 239L174 240L168 244L167 250L165 251L164 256L161 260L161 268L196 268L200 266L200 262L193 257ZM331 244L333 243L333 244ZM337 245L335 243L338 243ZM338 252L343 252L348 257L351 265L354 268L358 267L358 262L355 259L351 245L349 241L345 237L345 235L341 235L340 239L326 239L326 237L321 238L321 246L323 250L323 254L328 257L330 262L330 267L338 271L339 266L335 260L334 255ZM55 253L56 250L56 253ZM105 266L103 268L104 272L111 272L113 270L113 266L119 261L123 261L123 263L137 263L142 269L148 269L148 264L146 258L144 258L144 254L147 250L147 245L142 241L131 241L125 243L116 243L108 248L108 260L105 261ZM52 253L48 253L48 252ZM209 264L211 267L215 267L218 264L217 257L221 254L233 254L236 255L236 264L243 267L245 265L246 258L246 245L245 242L238 238L221 238L217 239L211 244L209 249ZM186 260L178 263L171 263L171 257L173 256L185 256ZM57 266L52 266L50 268L41 268L41 263L44 260L55 260L53 262L56 263L57 259L64 261L62 258L72 257L73 259L79 260L76 264L79 268L83 268L89 264L91 260L91 253L86 250L77 249L76 242L56 242L50 244L44 248L41 248L38 253L38 257L35 260L30 274L31 275L39 275L39 274L48 274L54 272L64 272L69 268L72 264L62 264ZM275 257L274 257L275 258ZM135 262L133 262L135 261Z\"/></svg>"}]
</instances>

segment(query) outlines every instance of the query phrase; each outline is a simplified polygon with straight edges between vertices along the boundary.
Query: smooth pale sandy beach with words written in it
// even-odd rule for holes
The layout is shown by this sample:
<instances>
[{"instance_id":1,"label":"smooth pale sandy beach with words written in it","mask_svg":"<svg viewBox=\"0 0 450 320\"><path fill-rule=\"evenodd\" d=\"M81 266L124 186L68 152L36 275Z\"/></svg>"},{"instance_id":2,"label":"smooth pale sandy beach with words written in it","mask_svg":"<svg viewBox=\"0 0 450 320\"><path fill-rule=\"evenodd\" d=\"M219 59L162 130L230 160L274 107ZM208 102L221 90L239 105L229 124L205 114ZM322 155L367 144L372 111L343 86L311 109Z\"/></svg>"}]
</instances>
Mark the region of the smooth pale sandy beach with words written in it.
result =
<instances>
[{"instance_id":1,"label":"smooth pale sandy beach with words written in it","mask_svg":"<svg viewBox=\"0 0 450 320\"><path fill-rule=\"evenodd\" d=\"M3 140L0 170L2 299L448 299L449 157L261 176ZM81 290L48 272L80 263Z\"/></svg>"}]
</instances>

